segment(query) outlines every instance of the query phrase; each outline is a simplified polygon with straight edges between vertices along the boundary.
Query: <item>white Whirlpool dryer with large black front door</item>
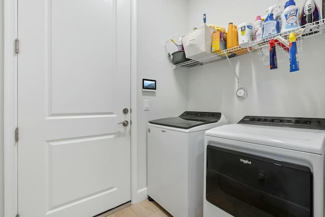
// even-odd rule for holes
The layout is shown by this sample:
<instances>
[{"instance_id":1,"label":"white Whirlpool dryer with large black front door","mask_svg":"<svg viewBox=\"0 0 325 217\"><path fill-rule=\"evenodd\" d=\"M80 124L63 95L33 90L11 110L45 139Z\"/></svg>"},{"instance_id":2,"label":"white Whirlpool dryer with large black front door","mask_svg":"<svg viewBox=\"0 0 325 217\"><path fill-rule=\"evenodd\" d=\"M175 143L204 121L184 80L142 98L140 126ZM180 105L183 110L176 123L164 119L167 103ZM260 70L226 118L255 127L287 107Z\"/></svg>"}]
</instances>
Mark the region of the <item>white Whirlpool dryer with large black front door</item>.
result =
<instances>
[{"instance_id":1,"label":"white Whirlpool dryer with large black front door","mask_svg":"<svg viewBox=\"0 0 325 217\"><path fill-rule=\"evenodd\" d=\"M325 119L246 116L205 133L204 216L324 216Z\"/></svg>"}]
</instances>

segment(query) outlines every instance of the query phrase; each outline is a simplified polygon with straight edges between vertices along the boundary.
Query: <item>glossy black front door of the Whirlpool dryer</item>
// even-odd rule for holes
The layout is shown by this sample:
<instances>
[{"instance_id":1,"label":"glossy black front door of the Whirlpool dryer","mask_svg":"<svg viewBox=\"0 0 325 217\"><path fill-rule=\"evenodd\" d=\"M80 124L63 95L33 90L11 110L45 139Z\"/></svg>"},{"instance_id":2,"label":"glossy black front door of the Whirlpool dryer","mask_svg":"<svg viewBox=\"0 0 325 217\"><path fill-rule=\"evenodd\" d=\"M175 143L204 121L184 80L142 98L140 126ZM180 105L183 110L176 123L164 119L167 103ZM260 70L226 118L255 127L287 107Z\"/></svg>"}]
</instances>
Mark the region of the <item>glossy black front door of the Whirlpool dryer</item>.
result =
<instances>
[{"instance_id":1,"label":"glossy black front door of the Whirlpool dryer","mask_svg":"<svg viewBox=\"0 0 325 217\"><path fill-rule=\"evenodd\" d=\"M310 217L306 166L207 147L206 199L236 217Z\"/></svg>"}]
</instances>

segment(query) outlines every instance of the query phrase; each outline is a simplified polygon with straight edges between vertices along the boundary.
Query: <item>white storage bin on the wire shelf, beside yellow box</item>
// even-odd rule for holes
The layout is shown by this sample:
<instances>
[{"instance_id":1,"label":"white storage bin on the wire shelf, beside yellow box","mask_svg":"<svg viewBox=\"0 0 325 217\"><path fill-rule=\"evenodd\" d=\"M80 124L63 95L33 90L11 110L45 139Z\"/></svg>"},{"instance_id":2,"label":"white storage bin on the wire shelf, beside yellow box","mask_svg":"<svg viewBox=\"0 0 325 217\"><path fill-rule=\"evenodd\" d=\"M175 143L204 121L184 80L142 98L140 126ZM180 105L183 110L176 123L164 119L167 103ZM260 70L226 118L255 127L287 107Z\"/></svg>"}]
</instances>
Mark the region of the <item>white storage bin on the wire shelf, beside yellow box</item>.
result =
<instances>
[{"instance_id":1,"label":"white storage bin on the wire shelf, beside yellow box","mask_svg":"<svg viewBox=\"0 0 325 217\"><path fill-rule=\"evenodd\" d=\"M186 58L197 59L211 54L213 28L207 25L182 35Z\"/></svg>"}]
</instances>

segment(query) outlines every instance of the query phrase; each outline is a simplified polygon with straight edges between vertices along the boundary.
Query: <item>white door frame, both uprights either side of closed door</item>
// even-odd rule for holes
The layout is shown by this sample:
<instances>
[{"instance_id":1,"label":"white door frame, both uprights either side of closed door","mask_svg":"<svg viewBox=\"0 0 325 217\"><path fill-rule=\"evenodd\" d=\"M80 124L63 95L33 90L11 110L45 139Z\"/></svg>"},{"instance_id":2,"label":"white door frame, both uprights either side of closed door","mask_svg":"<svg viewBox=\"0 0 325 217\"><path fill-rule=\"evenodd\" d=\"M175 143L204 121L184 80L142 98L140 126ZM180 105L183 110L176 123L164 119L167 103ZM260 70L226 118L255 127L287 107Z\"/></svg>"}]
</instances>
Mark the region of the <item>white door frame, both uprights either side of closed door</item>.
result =
<instances>
[{"instance_id":1,"label":"white door frame, both uprights either side of closed door","mask_svg":"<svg viewBox=\"0 0 325 217\"><path fill-rule=\"evenodd\" d=\"M14 41L17 38L18 0L4 0L4 172L5 216L17 214L17 54ZM131 200L145 199L137 192L137 0L131 4Z\"/></svg>"}]
</instances>

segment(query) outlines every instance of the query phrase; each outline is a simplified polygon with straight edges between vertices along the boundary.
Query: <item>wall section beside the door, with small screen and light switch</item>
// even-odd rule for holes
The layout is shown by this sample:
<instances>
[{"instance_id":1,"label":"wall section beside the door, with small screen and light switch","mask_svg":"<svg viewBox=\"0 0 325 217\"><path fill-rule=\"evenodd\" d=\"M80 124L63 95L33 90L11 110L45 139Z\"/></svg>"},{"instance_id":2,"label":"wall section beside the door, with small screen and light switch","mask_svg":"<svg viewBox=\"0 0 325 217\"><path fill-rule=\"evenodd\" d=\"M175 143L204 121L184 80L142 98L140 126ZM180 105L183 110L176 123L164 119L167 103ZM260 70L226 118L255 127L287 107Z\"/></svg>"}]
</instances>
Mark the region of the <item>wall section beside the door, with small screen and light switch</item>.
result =
<instances>
[{"instance_id":1,"label":"wall section beside the door, with small screen and light switch","mask_svg":"<svg viewBox=\"0 0 325 217\"><path fill-rule=\"evenodd\" d=\"M138 0L138 190L147 187L148 121L178 116L187 108L187 70L173 69L167 53L176 51L175 45L164 48L174 33L186 31L186 7L187 0ZM157 91L142 91L143 78L157 80ZM145 99L150 100L150 111L143 111Z\"/></svg>"}]
</instances>

